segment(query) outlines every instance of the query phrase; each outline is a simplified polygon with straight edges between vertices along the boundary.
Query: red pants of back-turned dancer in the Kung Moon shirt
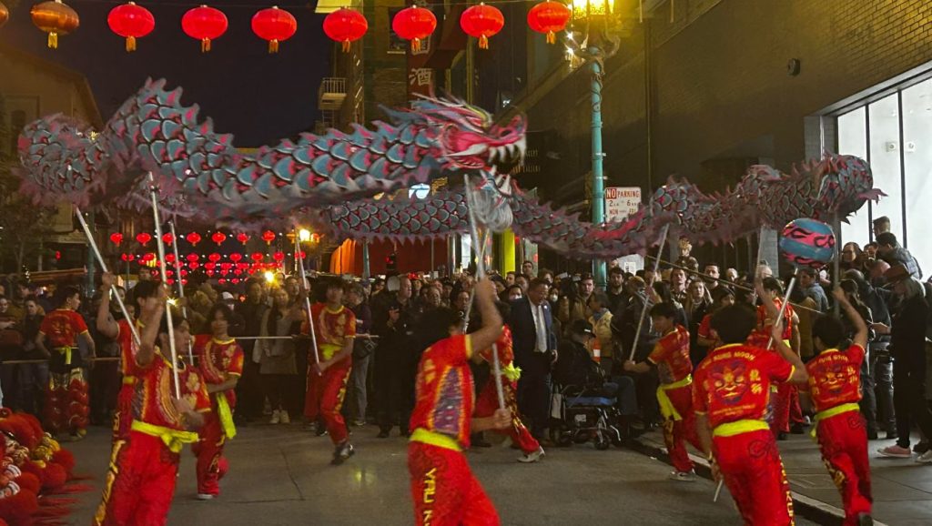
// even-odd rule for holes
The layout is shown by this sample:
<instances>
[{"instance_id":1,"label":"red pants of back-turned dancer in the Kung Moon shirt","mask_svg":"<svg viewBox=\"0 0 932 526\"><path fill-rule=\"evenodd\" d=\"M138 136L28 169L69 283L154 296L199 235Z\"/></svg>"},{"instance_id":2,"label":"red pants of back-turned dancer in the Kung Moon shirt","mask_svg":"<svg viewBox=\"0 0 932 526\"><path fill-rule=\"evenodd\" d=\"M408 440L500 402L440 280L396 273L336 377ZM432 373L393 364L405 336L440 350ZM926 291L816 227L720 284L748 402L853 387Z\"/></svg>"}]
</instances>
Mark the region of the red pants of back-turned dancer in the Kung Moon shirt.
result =
<instances>
[{"instance_id":1,"label":"red pants of back-turned dancer in the Kung Moon shirt","mask_svg":"<svg viewBox=\"0 0 932 526\"><path fill-rule=\"evenodd\" d=\"M751 431L712 439L728 491L745 524L787 526L793 523L793 499L774 434Z\"/></svg>"}]
</instances>

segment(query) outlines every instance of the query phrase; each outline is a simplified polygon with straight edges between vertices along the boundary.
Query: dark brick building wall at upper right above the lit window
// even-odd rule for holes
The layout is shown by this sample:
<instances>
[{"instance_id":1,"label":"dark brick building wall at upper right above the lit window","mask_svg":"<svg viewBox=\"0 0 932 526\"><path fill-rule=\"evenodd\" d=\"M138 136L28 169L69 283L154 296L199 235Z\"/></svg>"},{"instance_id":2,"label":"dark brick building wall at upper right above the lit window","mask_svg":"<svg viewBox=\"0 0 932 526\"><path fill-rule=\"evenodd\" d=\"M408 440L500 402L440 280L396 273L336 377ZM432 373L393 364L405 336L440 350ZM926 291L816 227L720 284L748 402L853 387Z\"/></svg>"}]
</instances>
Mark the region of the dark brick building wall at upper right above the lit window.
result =
<instances>
[{"instance_id":1,"label":"dark brick building wall at upper right above the lit window","mask_svg":"<svg viewBox=\"0 0 932 526\"><path fill-rule=\"evenodd\" d=\"M671 173L713 188L739 176L703 173L710 159L773 159L786 169L818 151L813 135L806 142L807 117L932 62L928 0L677 0L672 23L666 9L651 19L653 187ZM611 185L648 185L646 30L636 27L607 66ZM790 59L801 62L799 76L788 75ZM566 171L588 170L588 84L580 72L528 111L531 129L554 128L567 145L560 185ZM830 148L830 123L827 134ZM545 194L553 177L540 181Z\"/></svg>"}]
</instances>

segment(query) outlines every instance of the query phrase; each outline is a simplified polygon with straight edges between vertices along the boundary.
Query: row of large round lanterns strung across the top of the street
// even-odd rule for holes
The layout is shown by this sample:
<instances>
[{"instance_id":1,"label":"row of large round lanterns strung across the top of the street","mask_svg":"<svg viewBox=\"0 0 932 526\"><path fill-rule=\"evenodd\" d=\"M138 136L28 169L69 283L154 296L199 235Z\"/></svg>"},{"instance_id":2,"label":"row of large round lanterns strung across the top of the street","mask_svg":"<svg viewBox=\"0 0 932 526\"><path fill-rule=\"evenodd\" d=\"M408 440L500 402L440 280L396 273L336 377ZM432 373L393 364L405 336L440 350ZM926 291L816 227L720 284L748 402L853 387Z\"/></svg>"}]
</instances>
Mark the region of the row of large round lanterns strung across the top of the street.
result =
<instances>
[{"instance_id":1,"label":"row of large round lanterns strung across the top of the street","mask_svg":"<svg viewBox=\"0 0 932 526\"><path fill-rule=\"evenodd\" d=\"M528 12L528 26L533 31L547 35L548 43L555 43L557 32L563 31L569 22L570 10L555 0L545 0ZM0 26L9 18L7 7L0 1ZM80 20L77 13L62 0L48 0L36 4L32 9L35 27L48 33L48 47L58 48L59 35L68 35L77 29ZM126 50L136 49L136 40L149 35L156 27L152 12L134 2L114 7L107 15L111 31L126 39ZM253 33L268 42L268 52L276 53L281 42L288 40L297 31L295 17L277 6L257 11L251 22ZM505 17L498 7L479 4L469 7L459 17L459 27L467 35L479 39L479 48L488 48L488 39L498 35L505 25ZM212 41L226 33L228 21L220 9L199 6L189 9L181 19L185 35L200 41L200 51L211 50ZM323 20L323 32L339 42L343 51L363 38L369 22L362 13L349 7L331 12ZM425 7L406 7L391 21L391 29L411 42L413 52L420 51L421 41L437 29L437 18Z\"/></svg>"}]
</instances>

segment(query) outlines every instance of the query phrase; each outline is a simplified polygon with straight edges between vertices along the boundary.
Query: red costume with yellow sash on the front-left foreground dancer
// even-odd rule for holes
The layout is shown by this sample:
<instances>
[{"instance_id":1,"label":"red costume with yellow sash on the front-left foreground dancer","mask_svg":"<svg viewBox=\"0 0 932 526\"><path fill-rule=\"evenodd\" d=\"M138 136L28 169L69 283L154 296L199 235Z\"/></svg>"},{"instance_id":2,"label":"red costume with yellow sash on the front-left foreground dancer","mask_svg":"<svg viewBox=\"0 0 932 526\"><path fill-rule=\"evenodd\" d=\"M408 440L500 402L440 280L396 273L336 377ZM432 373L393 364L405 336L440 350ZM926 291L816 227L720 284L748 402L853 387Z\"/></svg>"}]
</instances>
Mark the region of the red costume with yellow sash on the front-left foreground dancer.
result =
<instances>
[{"instance_id":1,"label":"red costume with yellow sash on the front-left foreground dancer","mask_svg":"<svg viewBox=\"0 0 932 526\"><path fill-rule=\"evenodd\" d=\"M126 367L126 364L124 364ZM97 508L94 526L165 524L178 475L179 453L198 434L185 430L174 407L171 362L157 351L152 363L126 367L132 383L132 421L126 438L117 439ZM193 367L179 370L182 397L199 412L211 409L204 381ZM206 416L206 415L205 415Z\"/></svg>"}]
</instances>

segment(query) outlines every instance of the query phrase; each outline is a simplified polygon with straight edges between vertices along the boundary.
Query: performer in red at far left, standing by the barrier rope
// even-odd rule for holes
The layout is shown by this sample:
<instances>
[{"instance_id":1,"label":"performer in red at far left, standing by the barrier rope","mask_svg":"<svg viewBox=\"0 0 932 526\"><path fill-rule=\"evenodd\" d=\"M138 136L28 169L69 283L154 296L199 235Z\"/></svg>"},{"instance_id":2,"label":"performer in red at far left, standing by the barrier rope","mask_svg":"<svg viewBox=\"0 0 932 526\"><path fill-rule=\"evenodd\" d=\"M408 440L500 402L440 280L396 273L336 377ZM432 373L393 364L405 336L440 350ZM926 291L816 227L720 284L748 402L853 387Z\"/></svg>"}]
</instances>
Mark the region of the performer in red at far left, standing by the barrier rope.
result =
<instances>
[{"instance_id":1,"label":"performer in red at far left, standing by the barrier rope","mask_svg":"<svg viewBox=\"0 0 932 526\"><path fill-rule=\"evenodd\" d=\"M84 361L77 339L87 344L94 357L94 339L90 338L84 318L75 312L81 305L81 295L75 287L64 287L57 295L59 308L46 314L35 346L49 356L46 421L52 435L71 433L73 440L87 435L88 382L81 367ZM48 340L48 345L46 345ZM53 353L48 352L51 347Z\"/></svg>"}]
</instances>

